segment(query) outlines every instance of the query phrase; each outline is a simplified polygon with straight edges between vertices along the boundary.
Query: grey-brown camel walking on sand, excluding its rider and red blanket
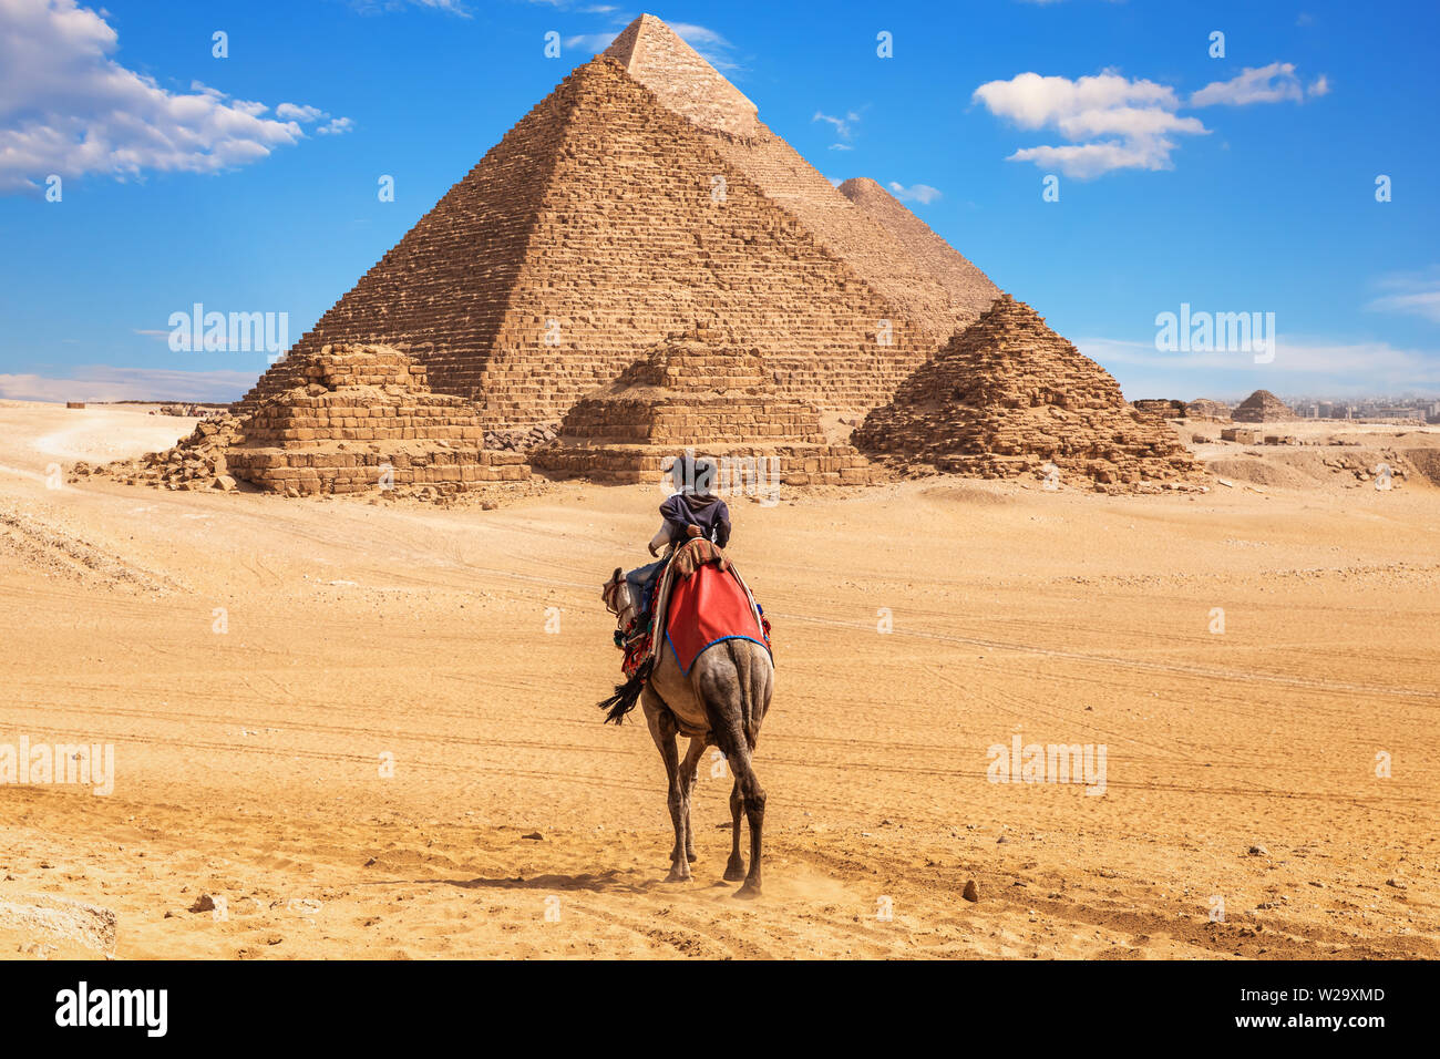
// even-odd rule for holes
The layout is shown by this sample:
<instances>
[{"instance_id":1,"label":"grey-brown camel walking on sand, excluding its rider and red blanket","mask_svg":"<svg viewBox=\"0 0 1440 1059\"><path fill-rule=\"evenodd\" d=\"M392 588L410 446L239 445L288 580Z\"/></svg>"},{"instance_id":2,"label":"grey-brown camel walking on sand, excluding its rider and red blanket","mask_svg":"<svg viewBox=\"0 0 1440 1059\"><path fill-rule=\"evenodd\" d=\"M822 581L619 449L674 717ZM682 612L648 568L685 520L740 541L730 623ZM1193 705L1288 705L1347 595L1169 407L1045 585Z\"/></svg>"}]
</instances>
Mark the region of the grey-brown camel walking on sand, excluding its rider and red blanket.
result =
<instances>
[{"instance_id":1,"label":"grey-brown camel walking on sand, excluding its rider and red blanket","mask_svg":"<svg viewBox=\"0 0 1440 1059\"><path fill-rule=\"evenodd\" d=\"M615 612L619 628L629 624L635 604L619 569L602 592ZM660 631L664 635L664 631ZM775 690L775 664L770 653L752 640L723 640L703 651L681 673L674 651L661 645L654 669L644 667L615 694L600 703L606 722L621 723L636 702L645 710L651 738L665 762L670 778L670 818L675 826L675 846L670 853L665 882L688 882L696 860L694 830L690 824L690 794L706 746L719 746L730 764L734 787L730 791L730 860L724 877L744 880L736 898L760 895L760 836L765 830L765 790L755 775L752 758L760 738L760 722L770 709ZM690 746L680 758L677 738L688 736ZM750 870L740 854L740 813L750 824Z\"/></svg>"}]
</instances>

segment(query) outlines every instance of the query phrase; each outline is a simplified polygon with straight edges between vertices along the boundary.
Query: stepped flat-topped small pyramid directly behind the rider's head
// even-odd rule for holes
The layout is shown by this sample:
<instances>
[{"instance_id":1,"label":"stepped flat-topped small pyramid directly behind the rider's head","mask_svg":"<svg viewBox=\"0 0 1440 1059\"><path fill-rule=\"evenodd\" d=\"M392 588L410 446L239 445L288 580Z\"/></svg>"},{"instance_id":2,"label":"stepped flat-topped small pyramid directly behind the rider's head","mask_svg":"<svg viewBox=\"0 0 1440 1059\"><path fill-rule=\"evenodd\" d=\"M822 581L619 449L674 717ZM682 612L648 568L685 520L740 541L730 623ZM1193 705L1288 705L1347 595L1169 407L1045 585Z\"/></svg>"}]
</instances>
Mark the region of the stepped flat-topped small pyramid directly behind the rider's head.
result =
<instances>
[{"instance_id":1,"label":"stepped flat-topped small pyramid directly behind the rider's head","mask_svg":"<svg viewBox=\"0 0 1440 1059\"><path fill-rule=\"evenodd\" d=\"M719 321L657 343L613 383L580 399L536 470L611 484L661 480L684 450L716 457L721 486L863 486L877 468L850 445L831 445L814 405L779 393L763 354ZM768 481L772 475L775 481Z\"/></svg>"}]
</instances>

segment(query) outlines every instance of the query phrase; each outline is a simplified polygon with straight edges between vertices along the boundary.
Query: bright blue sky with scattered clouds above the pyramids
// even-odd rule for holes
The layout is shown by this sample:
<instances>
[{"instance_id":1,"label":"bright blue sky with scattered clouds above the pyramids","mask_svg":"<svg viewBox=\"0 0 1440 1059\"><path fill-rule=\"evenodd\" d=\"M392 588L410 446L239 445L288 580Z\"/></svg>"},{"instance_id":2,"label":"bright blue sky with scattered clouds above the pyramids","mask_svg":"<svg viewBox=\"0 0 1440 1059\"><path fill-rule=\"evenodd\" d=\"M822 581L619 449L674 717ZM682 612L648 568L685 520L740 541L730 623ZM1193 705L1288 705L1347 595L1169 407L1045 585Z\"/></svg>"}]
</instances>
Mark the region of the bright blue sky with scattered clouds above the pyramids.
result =
<instances>
[{"instance_id":1,"label":"bright blue sky with scattered clouds above the pyramids","mask_svg":"<svg viewBox=\"0 0 1440 1059\"><path fill-rule=\"evenodd\" d=\"M1431 1L0 0L0 398L239 396L266 354L171 352L173 313L297 340L641 10L1132 399L1440 396ZM1273 313L1273 360L1156 350L1182 304Z\"/></svg>"}]
</instances>

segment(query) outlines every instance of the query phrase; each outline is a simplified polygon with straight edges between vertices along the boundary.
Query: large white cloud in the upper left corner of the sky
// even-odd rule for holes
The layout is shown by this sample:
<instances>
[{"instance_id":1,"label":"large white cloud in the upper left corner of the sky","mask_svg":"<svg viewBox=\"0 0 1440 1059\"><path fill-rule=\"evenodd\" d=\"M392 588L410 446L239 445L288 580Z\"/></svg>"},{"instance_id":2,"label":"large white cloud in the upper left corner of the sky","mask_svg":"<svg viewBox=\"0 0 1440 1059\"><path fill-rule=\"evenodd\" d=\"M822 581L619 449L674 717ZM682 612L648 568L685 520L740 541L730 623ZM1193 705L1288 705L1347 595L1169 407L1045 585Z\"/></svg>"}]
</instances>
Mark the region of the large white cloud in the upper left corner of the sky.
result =
<instances>
[{"instance_id":1,"label":"large white cloud in the upper left corner of the sky","mask_svg":"<svg viewBox=\"0 0 1440 1059\"><path fill-rule=\"evenodd\" d=\"M261 117L265 104L204 85L168 92L111 59L117 48L115 30L75 0L0 0L0 193L50 173L213 173L305 135L294 118Z\"/></svg>"}]
</instances>

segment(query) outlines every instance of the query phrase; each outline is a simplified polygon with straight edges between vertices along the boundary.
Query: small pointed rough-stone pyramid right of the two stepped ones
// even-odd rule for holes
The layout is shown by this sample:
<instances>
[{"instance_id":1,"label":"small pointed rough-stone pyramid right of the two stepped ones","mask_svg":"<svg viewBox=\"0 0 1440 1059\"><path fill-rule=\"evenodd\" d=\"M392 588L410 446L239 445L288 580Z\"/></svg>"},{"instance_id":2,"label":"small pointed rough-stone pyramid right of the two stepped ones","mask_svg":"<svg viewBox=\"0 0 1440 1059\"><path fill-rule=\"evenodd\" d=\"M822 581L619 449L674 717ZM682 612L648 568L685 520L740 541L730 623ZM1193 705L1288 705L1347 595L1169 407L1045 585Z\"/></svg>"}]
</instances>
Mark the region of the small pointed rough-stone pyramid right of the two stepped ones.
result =
<instances>
[{"instance_id":1,"label":"small pointed rough-stone pyramid right of the two stepped ones","mask_svg":"<svg viewBox=\"0 0 1440 1059\"><path fill-rule=\"evenodd\" d=\"M1158 487L1195 471L1172 428L1136 412L1103 367L1008 294L873 411L851 441L901 467L985 478L1043 475L1053 463L1061 481L1083 475L1106 491Z\"/></svg>"}]
</instances>

